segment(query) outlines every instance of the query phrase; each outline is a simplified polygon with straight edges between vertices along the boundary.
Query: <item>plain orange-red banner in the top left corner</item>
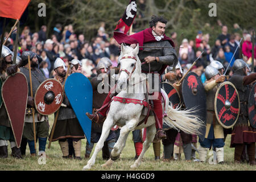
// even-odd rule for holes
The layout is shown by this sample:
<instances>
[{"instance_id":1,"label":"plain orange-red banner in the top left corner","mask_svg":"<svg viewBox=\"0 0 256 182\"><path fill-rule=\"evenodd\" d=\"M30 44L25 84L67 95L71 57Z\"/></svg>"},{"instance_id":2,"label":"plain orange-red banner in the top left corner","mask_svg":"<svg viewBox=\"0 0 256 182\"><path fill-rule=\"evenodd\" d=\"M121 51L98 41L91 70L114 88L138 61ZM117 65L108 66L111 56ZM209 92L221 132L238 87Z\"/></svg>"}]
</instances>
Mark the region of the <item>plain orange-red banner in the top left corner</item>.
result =
<instances>
[{"instance_id":1,"label":"plain orange-red banner in the top left corner","mask_svg":"<svg viewBox=\"0 0 256 182\"><path fill-rule=\"evenodd\" d=\"M5 18L20 19L30 0L1 0L0 16Z\"/></svg>"}]
</instances>

